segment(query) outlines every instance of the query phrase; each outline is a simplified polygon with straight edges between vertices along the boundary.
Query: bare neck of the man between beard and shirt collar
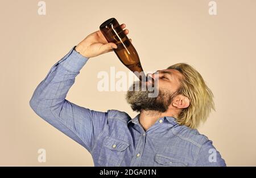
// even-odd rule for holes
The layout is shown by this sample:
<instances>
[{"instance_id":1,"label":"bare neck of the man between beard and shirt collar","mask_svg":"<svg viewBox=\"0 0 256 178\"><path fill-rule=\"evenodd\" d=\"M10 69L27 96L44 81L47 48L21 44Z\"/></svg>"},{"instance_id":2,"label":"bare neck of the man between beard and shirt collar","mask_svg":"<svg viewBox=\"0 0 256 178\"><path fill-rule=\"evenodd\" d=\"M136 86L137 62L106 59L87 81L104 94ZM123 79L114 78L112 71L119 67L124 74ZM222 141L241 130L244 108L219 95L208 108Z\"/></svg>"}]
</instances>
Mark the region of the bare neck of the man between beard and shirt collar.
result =
<instances>
[{"instance_id":1,"label":"bare neck of the man between beard and shirt collar","mask_svg":"<svg viewBox=\"0 0 256 178\"><path fill-rule=\"evenodd\" d=\"M172 113L170 112L158 112L158 111L144 111L142 110L139 115L139 123L142 125L143 129L147 131L152 125L155 124L155 122L158 120L158 118L164 117L164 116L170 116L172 117Z\"/></svg>"}]
</instances>

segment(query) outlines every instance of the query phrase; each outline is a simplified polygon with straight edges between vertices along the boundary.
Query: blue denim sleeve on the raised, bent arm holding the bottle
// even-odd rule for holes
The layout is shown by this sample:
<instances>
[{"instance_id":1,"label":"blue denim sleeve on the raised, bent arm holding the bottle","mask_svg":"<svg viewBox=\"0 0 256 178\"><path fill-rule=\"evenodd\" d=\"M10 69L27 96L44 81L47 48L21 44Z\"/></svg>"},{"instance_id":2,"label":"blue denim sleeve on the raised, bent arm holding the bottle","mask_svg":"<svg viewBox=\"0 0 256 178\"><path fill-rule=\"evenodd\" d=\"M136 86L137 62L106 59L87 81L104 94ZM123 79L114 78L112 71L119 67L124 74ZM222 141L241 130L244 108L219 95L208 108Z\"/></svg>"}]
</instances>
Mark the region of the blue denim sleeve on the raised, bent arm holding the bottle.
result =
<instances>
[{"instance_id":1,"label":"blue denim sleeve on the raised, bent arm holding the bottle","mask_svg":"<svg viewBox=\"0 0 256 178\"><path fill-rule=\"evenodd\" d=\"M105 128L108 112L93 111L65 99L75 77L88 61L74 49L51 67L36 87L30 106L38 116L91 152Z\"/></svg>"}]
</instances>

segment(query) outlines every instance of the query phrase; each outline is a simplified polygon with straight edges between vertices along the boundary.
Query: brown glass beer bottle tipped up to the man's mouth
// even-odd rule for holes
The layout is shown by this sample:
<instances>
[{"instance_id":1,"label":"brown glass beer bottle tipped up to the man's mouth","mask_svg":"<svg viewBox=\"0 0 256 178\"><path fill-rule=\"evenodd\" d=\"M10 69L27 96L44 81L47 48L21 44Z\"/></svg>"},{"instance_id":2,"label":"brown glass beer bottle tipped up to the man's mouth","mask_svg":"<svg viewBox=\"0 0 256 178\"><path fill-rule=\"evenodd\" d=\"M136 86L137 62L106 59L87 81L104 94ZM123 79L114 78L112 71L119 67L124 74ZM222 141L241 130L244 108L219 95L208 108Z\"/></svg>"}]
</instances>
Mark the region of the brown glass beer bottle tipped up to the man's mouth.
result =
<instances>
[{"instance_id":1,"label":"brown glass beer bottle tipped up to the man's mouth","mask_svg":"<svg viewBox=\"0 0 256 178\"><path fill-rule=\"evenodd\" d=\"M114 52L123 65L133 72L137 71L140 75L137 73L134 74L137 75L140 80L142 80L142 77L146 80L138 53L129 38L123 33L123 29L120 27L117 20L115 18L106 20L101 24L100 31L109 43L115 43L117 45L117 49L114 49Z\"/></svg>"}]
</instances>

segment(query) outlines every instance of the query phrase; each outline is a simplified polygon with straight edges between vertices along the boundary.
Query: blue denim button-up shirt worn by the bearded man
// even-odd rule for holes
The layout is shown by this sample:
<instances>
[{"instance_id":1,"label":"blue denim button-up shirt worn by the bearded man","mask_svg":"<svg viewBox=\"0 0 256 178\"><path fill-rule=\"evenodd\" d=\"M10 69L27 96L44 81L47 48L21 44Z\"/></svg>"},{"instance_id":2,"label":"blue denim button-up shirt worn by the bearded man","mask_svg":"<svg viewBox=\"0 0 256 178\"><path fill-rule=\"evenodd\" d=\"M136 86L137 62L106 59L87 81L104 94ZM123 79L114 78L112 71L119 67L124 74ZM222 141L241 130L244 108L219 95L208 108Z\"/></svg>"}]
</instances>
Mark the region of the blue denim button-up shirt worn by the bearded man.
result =
<instances>
[{"instance_id":1,"label":"blue denim button-up shirt worn by the bearded man","mask_svg":"<svg viewBox=\"0 0 256 178\"><path fill-rule=\"evenodd\" d=\"M226 166L205 135L162 117L146 132L139 115L93 111L66 100L88 58L71 50L36 88L31 108L90 152L94 166Z\"/></svg>"}]
</instances>

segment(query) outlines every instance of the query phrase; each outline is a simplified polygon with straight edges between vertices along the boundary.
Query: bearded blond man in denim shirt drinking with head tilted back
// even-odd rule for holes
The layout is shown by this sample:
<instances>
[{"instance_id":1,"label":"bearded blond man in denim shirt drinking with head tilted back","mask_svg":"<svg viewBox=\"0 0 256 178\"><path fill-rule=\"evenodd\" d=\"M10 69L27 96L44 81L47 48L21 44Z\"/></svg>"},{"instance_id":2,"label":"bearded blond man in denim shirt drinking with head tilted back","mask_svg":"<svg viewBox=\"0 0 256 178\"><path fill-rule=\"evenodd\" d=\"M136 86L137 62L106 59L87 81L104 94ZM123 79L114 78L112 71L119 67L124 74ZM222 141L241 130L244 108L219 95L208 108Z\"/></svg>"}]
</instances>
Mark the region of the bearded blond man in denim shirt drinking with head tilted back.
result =
<instances>
[{"instance_id":1,"label":"bearded blond man in denim shirt drinking with head tilted back","mask_svg":"<svg viewBox=\"0 0 256 178\"><path fill-rule=\"evenodd\" d=\"M121 25L127 35L125 27ZM212 141L195 129L214 109L213 95L185 63L150 74L158 81L157 97L148 97L149 91L127 92L127 102L140 112L133 119L125 112L97 112L65 99L86 61L114 48L100 31L91 33L51 68L36 88L31 108L84 146L95 166L226 166Z\"/></svg>"}]
</instances>

